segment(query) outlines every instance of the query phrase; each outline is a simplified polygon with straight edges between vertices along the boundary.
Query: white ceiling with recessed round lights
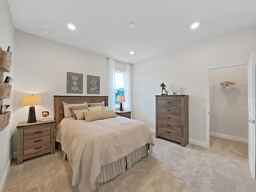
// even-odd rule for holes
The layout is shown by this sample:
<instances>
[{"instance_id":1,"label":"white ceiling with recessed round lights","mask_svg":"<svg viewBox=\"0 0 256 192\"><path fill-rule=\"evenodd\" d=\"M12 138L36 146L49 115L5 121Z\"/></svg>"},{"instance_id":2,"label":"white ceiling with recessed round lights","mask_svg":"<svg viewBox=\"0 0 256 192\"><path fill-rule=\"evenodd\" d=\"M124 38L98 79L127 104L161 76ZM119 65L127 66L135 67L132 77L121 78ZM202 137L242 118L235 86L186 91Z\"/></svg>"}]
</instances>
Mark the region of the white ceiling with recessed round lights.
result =
<instances>
[{"instance_id":1,"label":"white ceiling with recessed round lights","mask_svg":"<svg viewBox=\"0 0 256 192\"><path fill-rule=\"evenodd\" d=\"M128 63L256 25L256 0L8 0L8 4L18 30ZM191 30L196 21L200 26ZM129 28L130 22L135 28ZM76 30L67 28L70 23Z\"/></svg>"}]
</instances>

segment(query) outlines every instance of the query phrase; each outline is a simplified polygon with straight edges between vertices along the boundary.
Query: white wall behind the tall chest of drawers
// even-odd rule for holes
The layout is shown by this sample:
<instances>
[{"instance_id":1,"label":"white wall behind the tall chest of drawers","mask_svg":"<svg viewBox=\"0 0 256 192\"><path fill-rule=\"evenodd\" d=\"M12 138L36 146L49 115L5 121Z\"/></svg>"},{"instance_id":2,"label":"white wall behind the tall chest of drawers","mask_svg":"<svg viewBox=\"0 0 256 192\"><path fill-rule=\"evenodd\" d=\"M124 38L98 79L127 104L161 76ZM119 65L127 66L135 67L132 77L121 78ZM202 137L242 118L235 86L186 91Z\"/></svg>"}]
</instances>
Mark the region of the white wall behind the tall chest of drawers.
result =
<instances>
[{"instance_id":1,"label":"white wall behind the tall chest of drawers","mask_svg":"<svg viewBox=\"0 0 256 192\"><path fill-rule=\"evenodd\" d=\"M189 95L189 138L204 143L205 68L249 60L252 52L256 52L256 26L134 64L133 117L155 129L160 84L164 82L166 90L181 87L181 94Z\"/></svg>"}]
</instances>

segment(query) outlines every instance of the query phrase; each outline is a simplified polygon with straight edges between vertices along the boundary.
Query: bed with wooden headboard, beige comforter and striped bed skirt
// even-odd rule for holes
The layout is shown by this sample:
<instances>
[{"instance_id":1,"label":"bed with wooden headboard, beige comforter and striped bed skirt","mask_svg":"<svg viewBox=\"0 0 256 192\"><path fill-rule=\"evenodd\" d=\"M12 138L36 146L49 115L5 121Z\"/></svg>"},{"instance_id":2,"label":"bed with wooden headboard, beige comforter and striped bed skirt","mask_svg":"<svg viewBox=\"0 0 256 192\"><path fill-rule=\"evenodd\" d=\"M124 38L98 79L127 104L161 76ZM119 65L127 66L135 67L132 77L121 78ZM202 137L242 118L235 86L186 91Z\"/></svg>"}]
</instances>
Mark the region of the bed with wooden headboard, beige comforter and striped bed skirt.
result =
<instances>
[{"instance_id":1,"label":"bed with wooden headboard, beige comforter and striped bed skirt","mask_svg":"<svg viewBox=\"0 0 256 192\"><path fill-rule=\"evenodd\" d=\"M54 96L56 142L67 155L73 171L72 185L78 184L80 192L94 191L152 153L154 139L146 124L122 116L91 122L65 118L63 102L104 102L108 106L108 97Z\"/></svg>"}]
</instances>

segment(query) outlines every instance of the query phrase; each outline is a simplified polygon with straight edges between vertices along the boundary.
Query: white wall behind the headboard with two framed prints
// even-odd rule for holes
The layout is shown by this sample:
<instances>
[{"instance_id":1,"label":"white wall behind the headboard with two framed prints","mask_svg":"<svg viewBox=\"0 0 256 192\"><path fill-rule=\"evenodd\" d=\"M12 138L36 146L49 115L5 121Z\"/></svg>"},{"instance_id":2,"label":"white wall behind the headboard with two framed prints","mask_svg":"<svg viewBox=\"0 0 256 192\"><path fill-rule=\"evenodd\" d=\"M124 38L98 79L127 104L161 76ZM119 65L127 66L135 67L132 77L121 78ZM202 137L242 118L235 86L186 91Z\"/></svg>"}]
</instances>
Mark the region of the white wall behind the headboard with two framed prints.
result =
<instances>
[{"instance_id":1,"label":"white wall behind the headboard with two framed prints","mask_svg":"<svg viewBox=\"0 0 256 192\"><path fill-rule=\"evenodd\" d=\"M86 43L86 42L84 42ZM28 120L29 106L22 106L22 94L41 94L42 105L35 106L54 115L54 95L107 96L107 58L15 30L14 126ZM67 72L83 74L83 93L66 93ZM87 75L100 76L100 94L87 94ZM16 132L13 135L16 146Z\"/></svg>"}]
</instances>

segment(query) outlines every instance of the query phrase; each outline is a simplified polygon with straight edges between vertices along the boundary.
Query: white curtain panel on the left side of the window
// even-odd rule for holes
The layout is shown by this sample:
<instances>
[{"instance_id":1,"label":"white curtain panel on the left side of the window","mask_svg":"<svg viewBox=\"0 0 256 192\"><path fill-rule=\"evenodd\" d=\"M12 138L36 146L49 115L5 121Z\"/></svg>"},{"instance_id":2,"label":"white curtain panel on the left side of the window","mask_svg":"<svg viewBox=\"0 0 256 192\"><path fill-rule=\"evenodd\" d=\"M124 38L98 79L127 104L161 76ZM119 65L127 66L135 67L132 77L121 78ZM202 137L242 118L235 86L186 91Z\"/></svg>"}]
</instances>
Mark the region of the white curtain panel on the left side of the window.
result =
<instances>
[{"instance_id":1,"label":"white curtain panel on the left side of the window","mask_svg":"<svg viewBox=\"0 0 256 192\"><path fill-rule=\"evenodd\" d=\"M108 106L115 110L115 60L108 58Z\"/></svg>"}]
</instances>

